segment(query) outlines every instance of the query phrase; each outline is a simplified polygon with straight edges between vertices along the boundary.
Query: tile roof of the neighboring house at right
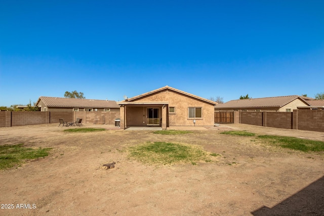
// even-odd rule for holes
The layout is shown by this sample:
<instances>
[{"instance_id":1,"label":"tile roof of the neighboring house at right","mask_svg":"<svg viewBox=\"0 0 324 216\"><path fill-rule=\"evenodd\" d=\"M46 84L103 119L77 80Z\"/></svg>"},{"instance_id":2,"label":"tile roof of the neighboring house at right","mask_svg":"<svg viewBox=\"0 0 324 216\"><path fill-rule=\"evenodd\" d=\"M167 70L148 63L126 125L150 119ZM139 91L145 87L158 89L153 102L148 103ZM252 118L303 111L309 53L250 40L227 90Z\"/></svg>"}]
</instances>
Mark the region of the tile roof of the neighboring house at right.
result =
<instances>
[{"instance_id":1,"label":"tile roof of the neighboring house at right","mask_svg":"<svg viewBox=\"0 0 324 216\"><path fill-rule=\"evenodd\" d=\"M218 104L215 109L219 108L261 108L261 107L282 107L286 104L294 101L295 99L302 100L305 105L310 105L298 95L292 96L280 96L280 97L269 97L269 98L253 98L253 99L238 99L228 101L224 104Z\"/></svg>"}]
</instances>

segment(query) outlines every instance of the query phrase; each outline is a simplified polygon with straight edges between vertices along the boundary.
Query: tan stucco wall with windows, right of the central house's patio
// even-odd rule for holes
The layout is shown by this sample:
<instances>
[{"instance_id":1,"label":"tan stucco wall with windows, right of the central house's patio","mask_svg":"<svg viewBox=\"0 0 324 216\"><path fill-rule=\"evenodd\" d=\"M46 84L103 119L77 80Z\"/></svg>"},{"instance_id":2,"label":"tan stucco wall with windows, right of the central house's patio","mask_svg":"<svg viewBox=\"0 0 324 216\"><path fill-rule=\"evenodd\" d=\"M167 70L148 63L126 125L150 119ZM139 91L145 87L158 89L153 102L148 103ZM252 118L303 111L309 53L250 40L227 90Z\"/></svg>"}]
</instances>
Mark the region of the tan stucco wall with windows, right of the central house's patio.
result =
<instances>
[{"instance_id":1,"label":"tan stucco wall with windows, right of the central house's patio","mask_svg":"<svg viewBox=\"0 0 324 216\"><path fill-rule=\"evenodd\" d=\"M168 101L169 107L175 107L175 114L167 114L169 116L168 126L193 126L193 118L188 118L188 107L201 107L202 118L196 118L195 125L214 125L214 105L187 95L174 92L172 90L164 90L132 102L156 102ZM142 108L143 109L143 108ZM161 111L161 110L160 110ZM168 111L169 113L169 111ZM127 115L128 116L128 115Z\"/></svg>"}]
</instances>

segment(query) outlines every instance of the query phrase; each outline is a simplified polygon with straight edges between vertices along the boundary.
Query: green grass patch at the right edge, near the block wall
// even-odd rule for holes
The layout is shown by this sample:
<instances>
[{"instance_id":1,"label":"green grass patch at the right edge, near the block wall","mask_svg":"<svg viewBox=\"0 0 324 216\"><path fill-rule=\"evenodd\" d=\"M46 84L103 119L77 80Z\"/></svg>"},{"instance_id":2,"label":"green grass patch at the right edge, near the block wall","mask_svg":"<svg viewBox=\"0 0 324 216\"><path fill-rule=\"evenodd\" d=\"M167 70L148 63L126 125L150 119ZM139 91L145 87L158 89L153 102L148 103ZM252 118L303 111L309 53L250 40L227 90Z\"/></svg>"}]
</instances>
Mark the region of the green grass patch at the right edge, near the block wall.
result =
<instances>
[{"instance_id":1,"label":"green grass patch at the right edge, near the block wall","mask_svg":"<svg viewBox=\"0 0 324 216\"><path fill-rule=\"evenodd\" d=\"M281 136L270 136L261 135L258 136L259 139L265 141L266 143L274 146L280 146L282 148L288 148L303 152L313 151L324 151L324 142L305 140L295 137L281 137Z\"/></svg>"}]
</instances>

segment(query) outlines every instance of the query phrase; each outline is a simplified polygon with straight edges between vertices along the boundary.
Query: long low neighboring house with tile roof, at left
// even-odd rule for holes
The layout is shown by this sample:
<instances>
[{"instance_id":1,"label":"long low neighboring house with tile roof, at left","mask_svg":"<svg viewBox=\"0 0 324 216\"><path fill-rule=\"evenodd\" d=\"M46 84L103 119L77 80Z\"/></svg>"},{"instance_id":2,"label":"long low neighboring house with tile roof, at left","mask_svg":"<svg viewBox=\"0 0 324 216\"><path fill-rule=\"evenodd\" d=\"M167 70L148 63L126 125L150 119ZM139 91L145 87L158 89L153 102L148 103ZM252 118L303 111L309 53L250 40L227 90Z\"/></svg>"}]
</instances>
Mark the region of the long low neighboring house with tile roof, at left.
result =
<instances>
[{"instance_id":1,"label":"long low neighboring house with tile roof, at left","mask_svg":"<svg viewBox=\"0 0 324 216\"><path fill-rule=\"evenodd\" d=\"M119 111L115 101L78 98L39 97L41 111Z\"/></svg>"}]
</instances>

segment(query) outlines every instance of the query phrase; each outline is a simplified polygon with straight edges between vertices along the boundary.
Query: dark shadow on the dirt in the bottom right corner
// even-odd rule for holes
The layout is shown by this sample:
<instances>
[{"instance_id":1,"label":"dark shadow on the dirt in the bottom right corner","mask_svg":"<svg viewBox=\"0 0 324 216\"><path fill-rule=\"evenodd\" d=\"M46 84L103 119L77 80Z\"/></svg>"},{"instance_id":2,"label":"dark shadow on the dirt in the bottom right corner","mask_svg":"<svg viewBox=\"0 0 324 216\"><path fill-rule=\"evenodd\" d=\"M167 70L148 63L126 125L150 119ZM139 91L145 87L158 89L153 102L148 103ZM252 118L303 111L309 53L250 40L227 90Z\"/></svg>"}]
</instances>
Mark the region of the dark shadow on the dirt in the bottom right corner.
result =
<instances>
[{"instance_id":1,"label":"dark shadow on the dirt in the bottom right corner","mask_svg":"<svg viewBox=\"0 0 324 216\"><path fill-rule=\"evenodd\" d=\"M272 208L251 212L263 215L324 215L324 176Z\"/></svg>"}]
</instances>

